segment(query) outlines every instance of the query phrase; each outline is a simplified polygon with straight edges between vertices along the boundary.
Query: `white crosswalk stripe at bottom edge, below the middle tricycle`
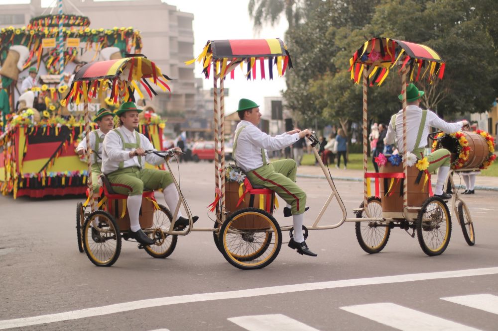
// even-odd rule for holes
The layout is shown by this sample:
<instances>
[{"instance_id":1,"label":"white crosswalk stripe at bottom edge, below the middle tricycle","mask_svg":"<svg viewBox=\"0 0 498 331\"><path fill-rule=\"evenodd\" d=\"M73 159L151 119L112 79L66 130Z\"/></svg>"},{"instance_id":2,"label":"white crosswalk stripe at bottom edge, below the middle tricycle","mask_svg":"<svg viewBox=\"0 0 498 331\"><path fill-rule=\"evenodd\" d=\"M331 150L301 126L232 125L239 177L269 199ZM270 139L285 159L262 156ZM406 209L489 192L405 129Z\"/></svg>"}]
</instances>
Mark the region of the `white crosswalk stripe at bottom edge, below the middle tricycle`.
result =
<instances>
[{"instance_id":1,"label":"white crosswalk stripe at bottom edge, below the middle tricycle","mask_svg":"<svg viewBox=\"0 0 498 331\"><path fill-rule=\"evenodd\" d=\"M240 316L227 320L249 331L319 331L282 314Z\"/></svg>"}]
</instances>

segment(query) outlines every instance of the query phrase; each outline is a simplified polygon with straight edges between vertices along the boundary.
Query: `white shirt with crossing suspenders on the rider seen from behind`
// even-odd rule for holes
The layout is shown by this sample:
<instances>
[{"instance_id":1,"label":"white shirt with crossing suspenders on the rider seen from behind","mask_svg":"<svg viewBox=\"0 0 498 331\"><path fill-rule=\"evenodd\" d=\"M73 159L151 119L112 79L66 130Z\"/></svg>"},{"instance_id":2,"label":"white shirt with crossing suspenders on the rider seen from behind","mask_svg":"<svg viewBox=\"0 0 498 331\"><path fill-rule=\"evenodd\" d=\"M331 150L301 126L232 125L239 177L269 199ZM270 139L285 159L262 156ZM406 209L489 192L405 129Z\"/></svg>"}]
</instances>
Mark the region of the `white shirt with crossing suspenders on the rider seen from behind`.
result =
<instances>
[{"instance_id":1,"label":"white shirt with crossing suspenders on the rider seen from behind","mask_svg":"<svg viewBox=\"0 0 498 331\"><path fill-rule=\"evenodd\" d=\"M422 108L409 105L406 107L406 147L408 151L413 152L416 148L423 148L427 146L427 136L429 135L429 127L434 127L445 133L454 133L462 129L462 122L448 123L438 117L433 111L427 110L427 118L425 119L425 126L420 139L420 144L415 147L417 140L418 128L422 121ZM392 128L392 122L389 122L387 127L387 134L385 136L385 143L392 145L396 142L399 153L404 153L403 150L403 109L396 114L396 132Z\"/></svg>"}]
</instances>

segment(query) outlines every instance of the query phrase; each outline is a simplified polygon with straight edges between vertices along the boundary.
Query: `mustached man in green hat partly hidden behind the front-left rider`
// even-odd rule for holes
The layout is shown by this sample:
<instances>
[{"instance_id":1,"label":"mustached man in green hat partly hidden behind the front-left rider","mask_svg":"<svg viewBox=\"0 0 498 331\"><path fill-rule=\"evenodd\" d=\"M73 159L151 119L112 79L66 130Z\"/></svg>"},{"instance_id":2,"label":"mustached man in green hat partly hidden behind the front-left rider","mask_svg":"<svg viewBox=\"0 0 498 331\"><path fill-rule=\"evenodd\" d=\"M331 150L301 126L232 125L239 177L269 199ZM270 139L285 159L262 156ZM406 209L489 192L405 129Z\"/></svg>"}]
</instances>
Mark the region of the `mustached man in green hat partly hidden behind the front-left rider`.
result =
<instances>
[{"instance_id":1,"label":"mustached man in green hat partly hidden behind the front-left rider","mask_svg":"<svg viewBox=\"0 0 498 331\"><path fill-rule=\"evenodd\" d=\"M114 128L115 113L106 108L101 108L94 119L99 128L90 132L90 149L93 151L89 157L92 160L92 188L94 193L99 193L99 176L102 173L102 146L106 134ZM76 153L84 156L87 152L87 140L85 137L76 148Z\"/></svg>"}]
</instances>

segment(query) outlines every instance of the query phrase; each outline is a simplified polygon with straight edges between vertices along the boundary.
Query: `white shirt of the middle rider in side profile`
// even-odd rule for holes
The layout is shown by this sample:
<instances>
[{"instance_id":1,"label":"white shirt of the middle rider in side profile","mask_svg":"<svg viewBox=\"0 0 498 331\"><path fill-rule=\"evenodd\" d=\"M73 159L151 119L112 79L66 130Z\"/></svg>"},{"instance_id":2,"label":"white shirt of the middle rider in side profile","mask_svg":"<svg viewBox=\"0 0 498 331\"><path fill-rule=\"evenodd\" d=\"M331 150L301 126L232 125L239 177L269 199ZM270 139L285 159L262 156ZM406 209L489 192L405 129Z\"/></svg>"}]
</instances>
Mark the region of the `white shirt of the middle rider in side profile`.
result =
<instances>
[{"instance_id":1,"label":"white shirt of the middle rider in side profile","mask_svg":"<svg viewBox=\"0 0 498 331\"><path fill-rule=\"evenodd\" d=\"M283 133L281 135L271 137L248 121L241 121L237 125L237 129L235 129L235 136L237 136L237 133L243 126L245 126L245 128L239 134L237 139L235 158L237 165L246 172L257 169L263 165L261 148L265 150L264 155L266 162L268 163L270 159L268 158L268 153L266 151L281 150L282 148L290 146L299 140L298 133L294 133L292 135Z\"/></svg>"}]
</instances>

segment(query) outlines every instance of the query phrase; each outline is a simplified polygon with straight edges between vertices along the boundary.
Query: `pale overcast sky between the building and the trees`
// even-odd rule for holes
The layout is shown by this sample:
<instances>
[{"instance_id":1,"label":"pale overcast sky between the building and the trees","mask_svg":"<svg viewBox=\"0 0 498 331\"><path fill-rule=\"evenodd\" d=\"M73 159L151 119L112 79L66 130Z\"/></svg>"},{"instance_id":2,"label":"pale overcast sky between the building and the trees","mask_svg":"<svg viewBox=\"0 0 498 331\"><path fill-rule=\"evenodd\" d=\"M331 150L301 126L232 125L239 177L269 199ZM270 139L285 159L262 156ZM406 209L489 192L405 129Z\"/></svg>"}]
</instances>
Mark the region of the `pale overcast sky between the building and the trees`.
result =
<instances>
[{"instance_id":1,"label":"pale overcast sky between the building and the trees","mask_svg":"<svg viewBox=\"0 0 498 331\"><path fill-rule=\"evenodd\" d=\"M162 0L162 2L175 5L181 11L194 14L194 56L197 56L202 51L203 46L209 39L278 37L283 40L284 32L287 28L287 22L285 21L285 18L282 17L277 26L265 26L261 29L259 34L255 34L248 14L248 0ZM7 3L29 3L29 0L0 0L0 4ZM48 6L51 3L56 3L56 1L42 0L43 6ZM140 29L140 26L137 26L132 22L130 22L129 25L132 25L138 30ZM292 49L289 50L292 55ZM201 69L196 65L195 76L201 77L200 74ZM204 80L205 88L211 88L212 86L212 80ZM249 98L258 104L263 105L264 96L280 95L280 91L285 89L285 80L282 78L274 78L273 81L261 81L258 73L258 80L247 81L242 76L242 71L237 68L235 80L231 81L227 79L225 81L225 87L230 88L230 96L225 99L225 109L228 114L237 109L240 98Z\"/></svg>"}]
</instances>

